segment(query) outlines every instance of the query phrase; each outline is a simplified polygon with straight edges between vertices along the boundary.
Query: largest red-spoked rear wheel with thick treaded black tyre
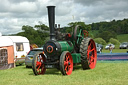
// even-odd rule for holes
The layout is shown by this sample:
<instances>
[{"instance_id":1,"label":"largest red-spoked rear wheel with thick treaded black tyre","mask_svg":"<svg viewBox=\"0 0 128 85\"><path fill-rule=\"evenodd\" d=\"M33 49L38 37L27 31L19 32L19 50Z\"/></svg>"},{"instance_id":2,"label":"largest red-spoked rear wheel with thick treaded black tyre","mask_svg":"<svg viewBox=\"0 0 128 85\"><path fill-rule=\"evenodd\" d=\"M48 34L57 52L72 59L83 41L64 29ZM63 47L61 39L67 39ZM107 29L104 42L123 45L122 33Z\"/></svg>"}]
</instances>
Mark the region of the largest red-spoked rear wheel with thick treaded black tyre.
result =
<instances>
[{"instance_id":1,"label":"largest red-spoked rear wheel with thick treaded black tyre","mask_svg":"<svg viewBox=\"0 0 128 85\"><path fill-rule=\"evenodd\" d=\"M97 51L95 42L91 38L84 38L80 45L82 68L93 69L96 66Z\"/></svg>"}]
</instances>

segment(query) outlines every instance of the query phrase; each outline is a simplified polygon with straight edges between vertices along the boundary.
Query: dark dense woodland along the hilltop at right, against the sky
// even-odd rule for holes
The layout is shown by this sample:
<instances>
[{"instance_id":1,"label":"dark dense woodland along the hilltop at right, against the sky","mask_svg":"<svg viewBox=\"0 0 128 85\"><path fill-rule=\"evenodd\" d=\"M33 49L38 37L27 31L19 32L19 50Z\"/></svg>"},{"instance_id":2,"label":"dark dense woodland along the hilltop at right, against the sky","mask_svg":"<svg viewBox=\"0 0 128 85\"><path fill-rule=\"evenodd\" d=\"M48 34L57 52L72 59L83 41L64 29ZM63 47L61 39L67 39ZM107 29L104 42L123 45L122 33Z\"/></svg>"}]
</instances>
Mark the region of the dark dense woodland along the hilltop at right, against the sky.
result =
<instances>
[{"instance_id":1,"label":"dark dense woodland along the hilltop at right, against the sky","mask_svg":"<svg viewBox=\"0 0 128 85\"><path fill-rule=\"evenodd\" d=\"M128 34L128 19L92 23L91 29L99 30L99 32L114 31L117 34Z\"/></svg>"}]
</instances>

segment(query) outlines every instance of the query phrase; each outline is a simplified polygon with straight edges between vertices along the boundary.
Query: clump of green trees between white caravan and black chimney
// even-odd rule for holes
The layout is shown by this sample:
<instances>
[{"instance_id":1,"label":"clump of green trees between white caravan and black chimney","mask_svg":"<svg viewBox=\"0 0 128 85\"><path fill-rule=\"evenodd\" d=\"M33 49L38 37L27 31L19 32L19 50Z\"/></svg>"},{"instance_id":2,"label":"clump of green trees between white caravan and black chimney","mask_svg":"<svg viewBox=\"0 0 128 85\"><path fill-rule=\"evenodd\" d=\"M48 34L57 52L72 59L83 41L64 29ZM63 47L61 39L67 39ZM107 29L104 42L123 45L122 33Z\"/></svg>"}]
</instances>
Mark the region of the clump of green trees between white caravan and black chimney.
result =
<instances>
[{"instance_id":1,"label":"clump of green trees between white caravan and black chimney","mask_svg":"<svg viewBox=\"0 0 128 85\"><path fill-rule=\"evenodd\" d=\"M30 44L36 44L39 47L42 47L45 41L49 39L49 27L44 24L35 25L34 27L24 25L22 26L22 32L15 35L24 36L30 41Z\"/></svg>"}]
</instances>

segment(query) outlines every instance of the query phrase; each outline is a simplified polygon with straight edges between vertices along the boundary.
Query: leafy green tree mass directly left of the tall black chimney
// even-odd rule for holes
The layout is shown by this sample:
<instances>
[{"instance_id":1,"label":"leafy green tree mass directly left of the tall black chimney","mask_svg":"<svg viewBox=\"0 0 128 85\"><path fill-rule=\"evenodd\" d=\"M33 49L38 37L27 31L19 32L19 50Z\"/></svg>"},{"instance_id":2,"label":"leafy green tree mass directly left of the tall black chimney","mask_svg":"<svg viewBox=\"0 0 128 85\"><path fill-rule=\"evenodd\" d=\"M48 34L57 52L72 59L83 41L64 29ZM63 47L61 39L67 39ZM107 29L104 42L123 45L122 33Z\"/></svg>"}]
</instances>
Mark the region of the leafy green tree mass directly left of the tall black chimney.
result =
<instances>
[{"instance_id":1,"label":"leafy green tree mass directly left of the tall black chimney","mask_svg":"<svg viewBox=\"0 0 128 85\"><path fill-rule=\"evenodd\" d=\"M30 41L30 44L37 44L38 46L42 46L45 43L44 40L49 36L48 32L42 31L41 29L35 30L28 25L22 26L22 30L23 32L17 35L26 37Z\"/></svg>"}]
</instances>

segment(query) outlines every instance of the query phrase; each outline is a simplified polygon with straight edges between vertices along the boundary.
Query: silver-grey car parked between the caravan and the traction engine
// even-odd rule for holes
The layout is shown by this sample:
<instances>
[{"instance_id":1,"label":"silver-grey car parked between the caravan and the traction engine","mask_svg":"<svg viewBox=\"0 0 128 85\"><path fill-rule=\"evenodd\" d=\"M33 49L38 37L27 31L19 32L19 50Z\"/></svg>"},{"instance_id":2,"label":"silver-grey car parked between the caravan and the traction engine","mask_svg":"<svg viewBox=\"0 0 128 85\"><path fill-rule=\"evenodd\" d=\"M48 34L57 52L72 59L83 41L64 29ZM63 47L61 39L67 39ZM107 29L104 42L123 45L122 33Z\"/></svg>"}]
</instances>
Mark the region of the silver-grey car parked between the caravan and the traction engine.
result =
<instances>
[{"instance_id":1,"label":"silver-grey car parked between the caravan and the traction engine","mask_svg":"<svg viewBox=\"0 0 128 85\"><path fill-rule=\"evenodd\" d=\"M43 52L43 48L34 48L31 51L29 51L29 53L25 57L25 65L26 65L26 68L32 66L33 56L35 54L37 54L37 53L40 53L40 52Z\"/></svg>"}]
</instances>

